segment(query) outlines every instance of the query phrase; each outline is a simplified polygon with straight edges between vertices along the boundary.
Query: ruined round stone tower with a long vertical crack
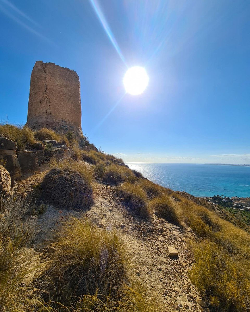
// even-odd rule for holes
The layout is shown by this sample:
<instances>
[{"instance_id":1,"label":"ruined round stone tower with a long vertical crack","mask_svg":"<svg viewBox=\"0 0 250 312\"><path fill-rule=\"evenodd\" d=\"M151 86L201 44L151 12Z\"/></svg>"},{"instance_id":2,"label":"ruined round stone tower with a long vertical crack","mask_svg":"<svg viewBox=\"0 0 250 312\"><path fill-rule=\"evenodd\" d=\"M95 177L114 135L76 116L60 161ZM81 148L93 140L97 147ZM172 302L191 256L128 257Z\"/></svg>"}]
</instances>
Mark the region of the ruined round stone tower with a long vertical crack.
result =
<instances>
[{"instance_id":1,"label":"ruined round stone tower with a long vertical crack","mask_svg":"<svg viewBox=\"0 0 250 312\"><path fill-rule=\"evenodd\" d=\"M83 135L80 80L75 71L37 61L30 78L26 126Z\"/></svg>"}]
</instances>

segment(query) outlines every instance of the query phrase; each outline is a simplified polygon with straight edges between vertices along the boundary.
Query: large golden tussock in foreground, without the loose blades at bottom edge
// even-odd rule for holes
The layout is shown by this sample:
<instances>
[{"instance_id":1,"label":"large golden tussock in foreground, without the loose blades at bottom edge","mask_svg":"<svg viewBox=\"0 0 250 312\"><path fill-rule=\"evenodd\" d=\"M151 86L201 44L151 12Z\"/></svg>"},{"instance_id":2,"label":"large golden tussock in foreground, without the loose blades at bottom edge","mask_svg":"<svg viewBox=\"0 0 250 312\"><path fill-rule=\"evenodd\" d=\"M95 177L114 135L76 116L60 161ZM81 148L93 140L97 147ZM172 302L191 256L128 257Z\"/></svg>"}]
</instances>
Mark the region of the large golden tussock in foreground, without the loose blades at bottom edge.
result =
<instances>
[{"instance_id":1,"label":"large golden tussock in foreground, without the loose blades at bottom edge","mask_svg":"<svg viewBox=\"0 0 250 312\"><path fill-rule=\"evenodd\" d=\"M115 230L103 231L72 217L63 223L55 247L47 275L53 281L54 296L59 294L56 299L63 303L82 295L115 296L128 283L128 253Z\"/></svg>"}]
</instances>

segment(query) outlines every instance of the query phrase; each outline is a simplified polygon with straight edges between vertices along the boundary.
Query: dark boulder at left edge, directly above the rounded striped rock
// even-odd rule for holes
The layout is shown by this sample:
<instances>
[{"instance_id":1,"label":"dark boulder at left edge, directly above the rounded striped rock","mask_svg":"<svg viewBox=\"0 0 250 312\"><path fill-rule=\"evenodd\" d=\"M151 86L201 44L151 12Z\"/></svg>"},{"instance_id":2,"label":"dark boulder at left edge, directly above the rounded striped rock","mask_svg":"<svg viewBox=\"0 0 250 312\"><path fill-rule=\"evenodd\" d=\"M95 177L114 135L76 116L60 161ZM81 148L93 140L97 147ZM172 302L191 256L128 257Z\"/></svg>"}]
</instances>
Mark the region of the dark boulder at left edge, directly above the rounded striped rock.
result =
<instances>
[{"instance_id":1,"label":"dark boulder at left edge, directly above the rounded striped rock","mask_svg":"<svg viewBox=\"0 0 250 312\"><path fill-rule=\"evenodd\" d=\"M6 161L5 168L9 172L12 182L21 178L22 171L17 159L17 152L14 149L0 149L0 156Z\"/></svg>"}]
</instances>

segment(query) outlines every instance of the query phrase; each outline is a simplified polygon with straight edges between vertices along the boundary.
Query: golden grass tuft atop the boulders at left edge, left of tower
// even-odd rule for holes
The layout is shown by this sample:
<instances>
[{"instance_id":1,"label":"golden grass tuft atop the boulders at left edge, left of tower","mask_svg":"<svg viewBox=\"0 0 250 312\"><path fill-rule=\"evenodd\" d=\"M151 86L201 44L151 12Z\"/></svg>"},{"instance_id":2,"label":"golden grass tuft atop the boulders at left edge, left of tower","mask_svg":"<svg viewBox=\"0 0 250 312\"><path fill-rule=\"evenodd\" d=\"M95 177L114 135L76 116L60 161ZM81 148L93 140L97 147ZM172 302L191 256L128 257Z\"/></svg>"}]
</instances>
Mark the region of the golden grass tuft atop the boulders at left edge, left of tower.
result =
<instances>
[{"instance_id":1,"label":"golden grass tuft atop the boulders at left edge, left of tower","mask_svg":"<svg viewBox=\"0 0 250 312\"><path fill-rule=\"evenodd\" d=\"M36 142L34 132L28 127L19 128L11 124L1 124L0 135L17 142L19 150L30 148Z\"/></svg>"}]
</instances>

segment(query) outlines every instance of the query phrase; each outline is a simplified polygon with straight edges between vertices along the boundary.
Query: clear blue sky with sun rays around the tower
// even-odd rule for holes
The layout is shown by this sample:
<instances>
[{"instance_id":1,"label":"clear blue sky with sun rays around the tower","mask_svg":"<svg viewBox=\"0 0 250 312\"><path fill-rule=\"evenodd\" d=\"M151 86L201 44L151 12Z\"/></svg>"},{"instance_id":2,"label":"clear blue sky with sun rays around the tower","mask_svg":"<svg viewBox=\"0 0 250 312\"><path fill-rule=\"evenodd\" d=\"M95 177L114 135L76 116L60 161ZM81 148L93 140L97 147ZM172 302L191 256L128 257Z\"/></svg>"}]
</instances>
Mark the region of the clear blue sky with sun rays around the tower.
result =
<instances>
[{"instance_id":1,"label":"clear blue sky with sun rays around the tower","mask_svg":"<svg viewBox=\"0 0 250 312\"><path fill-rule=\"evenodd\" d=\"M83 133L105 152L249 164L249 15L241 0L0 0L1 121L25 124L42 60L77 71ZM124 95L127 66L147 70L143 94Z\"/></svg>"}]
</instances>

